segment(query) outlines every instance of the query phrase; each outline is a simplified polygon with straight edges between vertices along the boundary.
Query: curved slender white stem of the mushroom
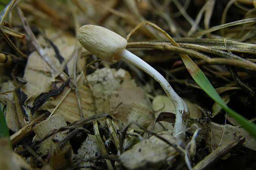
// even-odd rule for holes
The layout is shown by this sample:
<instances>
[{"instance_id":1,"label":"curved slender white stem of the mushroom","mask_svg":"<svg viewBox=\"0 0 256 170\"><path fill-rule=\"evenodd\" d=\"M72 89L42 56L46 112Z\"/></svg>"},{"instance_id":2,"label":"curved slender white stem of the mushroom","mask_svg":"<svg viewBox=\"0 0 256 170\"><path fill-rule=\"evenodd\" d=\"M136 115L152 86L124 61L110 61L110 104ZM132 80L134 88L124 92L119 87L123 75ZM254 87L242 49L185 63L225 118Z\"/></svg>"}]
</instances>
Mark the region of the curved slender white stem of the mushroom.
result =
<instances>
[{"instance_id":1,"label":"curved slender white stem of the mushroom","mask_svg":"<svg viewBox=\"0 0 256 170\"><path fill-rule=\"evenodd\" d=\"M130 51L126 49L119 50L115 56L130 62L131 64L137 66L142 69L146 73L148 73L151 77L153 77L157 82L160 83L161 87L171 99L176 109L176 121L174 126L174 134L178 134L179 132L185 131L186 126L182 122L182 115L180 113L181 110L188 111L186 103L177 95L177 93L173 90L169 82L158 72L156 69L152 68L147 62L137 57Z\"/></svg>"}]
</instances>

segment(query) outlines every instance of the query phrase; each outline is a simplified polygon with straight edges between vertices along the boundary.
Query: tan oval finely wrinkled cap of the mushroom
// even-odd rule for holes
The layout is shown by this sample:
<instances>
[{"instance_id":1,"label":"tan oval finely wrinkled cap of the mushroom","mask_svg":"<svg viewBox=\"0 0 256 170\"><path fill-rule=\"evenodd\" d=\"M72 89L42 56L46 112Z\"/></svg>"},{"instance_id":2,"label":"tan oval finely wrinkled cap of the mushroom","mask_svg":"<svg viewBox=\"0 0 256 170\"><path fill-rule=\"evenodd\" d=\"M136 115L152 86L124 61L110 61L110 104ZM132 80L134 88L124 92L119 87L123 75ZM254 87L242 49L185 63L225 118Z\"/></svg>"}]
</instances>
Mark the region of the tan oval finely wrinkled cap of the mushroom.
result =
<instances>
[{"instance_id":1,"label":"tan oval finely wrinkled cap of the mushroom","mask_svg":"<svg viewBox=\"0 0 256 170\"><path fill-rule=\"evenodd\" d=\"M125 38L101 26L84 25L78 29L77 35L83 48L110 63L121 60L115 54L127 46Z\"/></svg>"}]
</instances>

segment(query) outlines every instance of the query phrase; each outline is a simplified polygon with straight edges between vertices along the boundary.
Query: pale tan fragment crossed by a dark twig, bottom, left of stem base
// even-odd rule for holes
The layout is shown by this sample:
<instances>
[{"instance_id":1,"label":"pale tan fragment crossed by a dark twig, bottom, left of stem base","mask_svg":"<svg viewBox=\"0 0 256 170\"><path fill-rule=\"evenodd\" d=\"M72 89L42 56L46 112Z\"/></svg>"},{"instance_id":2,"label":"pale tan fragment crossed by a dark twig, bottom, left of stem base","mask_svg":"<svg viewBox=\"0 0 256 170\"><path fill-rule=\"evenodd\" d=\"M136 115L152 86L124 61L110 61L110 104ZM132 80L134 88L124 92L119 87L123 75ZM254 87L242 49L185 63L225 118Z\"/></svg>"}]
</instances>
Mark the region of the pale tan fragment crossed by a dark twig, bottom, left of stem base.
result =
<instances>
[{"instance_id":1,"label":"pale tan fragment crossed by a dark twig, bottom, left of stem base","mask_svg":"<svg viewBox=\"0 0 256 170\"><path fill-rule=\"evenodd\" d=\"M170 131L158 133L161 137L167 139L171 143L176 143L176 139L172 137ZM164 161L171 160L176 157L178 152L156 136L145 139L135 144L130 150L123 152L119 159L128 169L161 168Z\"/></svg>"}]
</instances>

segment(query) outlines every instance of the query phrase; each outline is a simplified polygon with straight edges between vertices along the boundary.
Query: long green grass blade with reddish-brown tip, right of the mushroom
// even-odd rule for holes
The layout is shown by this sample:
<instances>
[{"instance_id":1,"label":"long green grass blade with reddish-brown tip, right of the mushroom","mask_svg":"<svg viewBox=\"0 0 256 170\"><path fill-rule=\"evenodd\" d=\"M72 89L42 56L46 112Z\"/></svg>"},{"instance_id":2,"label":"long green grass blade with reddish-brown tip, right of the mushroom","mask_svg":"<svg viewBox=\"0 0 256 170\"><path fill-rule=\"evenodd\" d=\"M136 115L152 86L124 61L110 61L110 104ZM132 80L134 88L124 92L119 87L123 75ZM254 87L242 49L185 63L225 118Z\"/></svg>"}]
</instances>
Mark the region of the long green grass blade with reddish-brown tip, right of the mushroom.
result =
<instances>
[{"instance_id":1,"label":"long green grass blade with reddish-brown tip, right of the mushroom","mask_svg":"<svg viewBox=\"0 0 256 170\"><path fill-rule=\"evenodd\" d=\"M226 110L230 116L232 116L239 124L243 126L247 132L256 139L256 124L249 122L245 117L239 115L234 110L230 109L225 102L221 99L217 91L213 88L207 77L200 70L200 68L189 58L187 55L182 55L182 60L189 71L190 75L193 77L195 82L208 94L211 99L217 102L224 110Z\"/></svg>"}]
</instances>

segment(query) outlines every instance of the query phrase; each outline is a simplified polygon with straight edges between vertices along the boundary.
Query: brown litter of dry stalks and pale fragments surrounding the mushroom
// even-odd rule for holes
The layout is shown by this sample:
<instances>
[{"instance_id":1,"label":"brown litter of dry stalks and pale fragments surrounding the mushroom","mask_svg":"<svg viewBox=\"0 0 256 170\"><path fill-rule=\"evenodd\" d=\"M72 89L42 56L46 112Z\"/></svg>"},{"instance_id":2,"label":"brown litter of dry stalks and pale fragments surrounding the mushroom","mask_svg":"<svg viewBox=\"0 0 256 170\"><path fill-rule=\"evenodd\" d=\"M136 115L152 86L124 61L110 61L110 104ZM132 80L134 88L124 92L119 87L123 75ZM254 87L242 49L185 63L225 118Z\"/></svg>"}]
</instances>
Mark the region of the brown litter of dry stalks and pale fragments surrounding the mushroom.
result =
<instances>
[{"instance_id":1,"label":"brown litter of dry stalks and pale fragments surrounding the mushroom","mask_svg":"<svg viewBox=\"0 0 256 170\"><path fill-rule=\"evenodd\" d=\"M193 57L228 106L255 120L254 1L12 0L4 6L0 103L13 151L1 137L1 169L225 169L242 155L247 159L237 167L256 169L255 138L197 86L178 56ZM146 26L134 29L127 48L186 99L181 145L173 135L175 108L160 86L128 63L93 62L96 56L76 38L84 24L126 37L145 20L170 33L172 43Z\"/></svg>"}]
</instances>

